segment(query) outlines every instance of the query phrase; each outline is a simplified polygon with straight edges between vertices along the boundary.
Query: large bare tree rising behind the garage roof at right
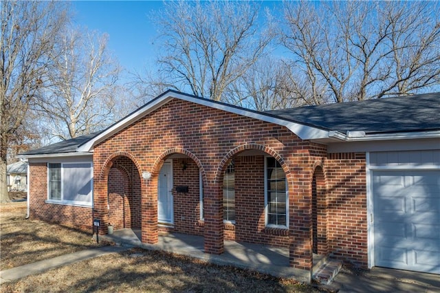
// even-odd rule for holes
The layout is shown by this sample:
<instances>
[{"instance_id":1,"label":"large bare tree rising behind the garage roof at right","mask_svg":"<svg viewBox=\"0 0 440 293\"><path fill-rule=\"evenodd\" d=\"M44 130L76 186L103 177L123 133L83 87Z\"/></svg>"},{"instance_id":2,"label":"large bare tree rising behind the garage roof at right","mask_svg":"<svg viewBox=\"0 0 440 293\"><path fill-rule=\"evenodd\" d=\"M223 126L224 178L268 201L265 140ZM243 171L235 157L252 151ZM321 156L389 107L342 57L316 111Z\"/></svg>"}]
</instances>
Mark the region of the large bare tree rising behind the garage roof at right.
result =
<instances>
[{"instance_id":1,"label":"large bare tree rising behind the garage roof at right","mask_svg":"<svg viewBox=\"0 0 440 293\"><path fill-rule=\"evenodd\" d=\"M364 100L439 85L437 3L286 2L284 12L281 39L294 54L291 79L301 80L293 91L308 100Z\"/></svg>"}]
</instances>

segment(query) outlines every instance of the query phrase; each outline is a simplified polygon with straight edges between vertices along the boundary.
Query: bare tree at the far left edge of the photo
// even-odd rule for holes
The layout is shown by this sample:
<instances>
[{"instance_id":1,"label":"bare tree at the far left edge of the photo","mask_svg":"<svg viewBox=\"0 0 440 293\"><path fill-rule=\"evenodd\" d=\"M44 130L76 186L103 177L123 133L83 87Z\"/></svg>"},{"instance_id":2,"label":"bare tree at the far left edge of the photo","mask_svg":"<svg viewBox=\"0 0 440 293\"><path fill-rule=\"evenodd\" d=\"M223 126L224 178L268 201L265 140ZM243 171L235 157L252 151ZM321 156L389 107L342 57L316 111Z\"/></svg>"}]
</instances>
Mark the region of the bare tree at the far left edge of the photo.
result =
<instances>
[{"instance_id":1,"label":"bare tree at the far left edge of the photo","mask_svg":"<svg viewBox=\"0 0 440 293\"><path fill-rule=\"evenodd\" d=\"M26 113L44 83L54 35L63 28L61 2L2 1L0 9L0 202L8 202L6 166L10 144L23 138ZM21 133L21 134L20 134Z\"/></svg>"}]
</instances>

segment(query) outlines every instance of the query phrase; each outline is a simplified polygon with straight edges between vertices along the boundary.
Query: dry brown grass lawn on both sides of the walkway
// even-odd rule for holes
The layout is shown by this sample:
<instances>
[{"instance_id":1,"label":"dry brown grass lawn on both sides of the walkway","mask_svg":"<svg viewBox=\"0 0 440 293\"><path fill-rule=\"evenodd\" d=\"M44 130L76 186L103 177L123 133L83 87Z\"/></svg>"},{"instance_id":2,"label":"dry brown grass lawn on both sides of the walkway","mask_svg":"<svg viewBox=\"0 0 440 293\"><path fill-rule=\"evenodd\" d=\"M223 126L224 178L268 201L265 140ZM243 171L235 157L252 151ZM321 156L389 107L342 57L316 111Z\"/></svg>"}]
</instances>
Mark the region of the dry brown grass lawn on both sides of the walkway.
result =
<instances>
[{"instance_id":1,"label":"dry brown grass lawn on both sides of the walkway","mask_svg":"<svg viewBox=\"0 0 440 293\"><path fill-rule=\"evenodd\" d=\"M25 204L1 206L1 270L96 246L91 235L24 220L24 214ZM0 292L323 291L266 274L134 248L3 283Z\"/></svg>"}]
</instances>

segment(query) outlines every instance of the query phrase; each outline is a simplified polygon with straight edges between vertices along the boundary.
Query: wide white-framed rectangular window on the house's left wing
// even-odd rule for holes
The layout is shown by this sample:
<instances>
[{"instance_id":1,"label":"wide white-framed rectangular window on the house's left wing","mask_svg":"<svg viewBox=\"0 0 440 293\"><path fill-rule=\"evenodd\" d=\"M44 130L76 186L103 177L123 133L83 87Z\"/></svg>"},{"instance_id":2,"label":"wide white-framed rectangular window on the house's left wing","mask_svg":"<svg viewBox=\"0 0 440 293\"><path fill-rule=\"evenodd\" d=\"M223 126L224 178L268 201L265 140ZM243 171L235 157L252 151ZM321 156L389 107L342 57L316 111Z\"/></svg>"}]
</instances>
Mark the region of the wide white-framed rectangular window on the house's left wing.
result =
<instances>
[{"instance_id":1,"label":"wide white-framed rectangular window on the house's left wing","mask_svg":"<svg viewBox=\"0 0 440 293\"><path fill-rule=\"evenodd\" d=\"M91 163L47 164L47 201L91 206Z\"/></svg>"}]
</instances>

